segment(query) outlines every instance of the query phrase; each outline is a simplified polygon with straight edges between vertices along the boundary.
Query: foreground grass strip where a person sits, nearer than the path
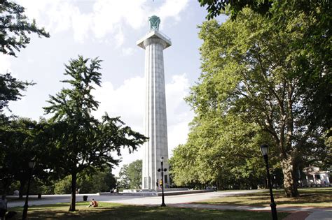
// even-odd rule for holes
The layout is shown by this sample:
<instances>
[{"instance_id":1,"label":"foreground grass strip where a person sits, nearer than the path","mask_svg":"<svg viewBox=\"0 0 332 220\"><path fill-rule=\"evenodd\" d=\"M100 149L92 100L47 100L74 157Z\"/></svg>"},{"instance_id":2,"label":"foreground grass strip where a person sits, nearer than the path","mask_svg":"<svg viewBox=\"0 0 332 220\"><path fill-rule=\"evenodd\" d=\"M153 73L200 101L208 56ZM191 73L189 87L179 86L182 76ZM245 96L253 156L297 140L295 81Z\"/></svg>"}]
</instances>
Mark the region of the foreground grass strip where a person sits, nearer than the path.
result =
<instances>
[{"instance_id":1,"label":"foreground grass strip where a person sits, nearer than the path","mask_svg":"<svg viewBox=\"0 0 332 220\"><path fill-rule=\"evenodd\" d=\"M144 207L117 203L99 203L99 207L88 208L88 204L76 203L76 212L68 212L69 203L31 206L28 219L271 219L270 212ZM18 219L22 217L22 207L15 207L11 211L18 212ZM283 219L288 214L278 212L278 218Z\"/></svg>"}]
</instances>

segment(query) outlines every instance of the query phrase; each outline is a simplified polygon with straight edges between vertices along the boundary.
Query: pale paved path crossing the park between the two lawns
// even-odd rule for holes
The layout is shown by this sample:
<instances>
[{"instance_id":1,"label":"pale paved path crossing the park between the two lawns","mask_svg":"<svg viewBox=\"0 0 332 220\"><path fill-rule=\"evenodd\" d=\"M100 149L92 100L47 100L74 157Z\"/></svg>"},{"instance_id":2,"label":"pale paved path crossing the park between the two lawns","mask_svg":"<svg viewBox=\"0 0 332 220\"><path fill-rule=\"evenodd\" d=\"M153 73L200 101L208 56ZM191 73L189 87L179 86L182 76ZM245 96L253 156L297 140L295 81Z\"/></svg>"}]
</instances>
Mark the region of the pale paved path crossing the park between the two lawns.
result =
<instances>
[{"instance_id":1,"label":"pale paved path crossing the park between the two lawns","mask_svg":"<svg viewBox=\"0 0 332 220\"><path fill-rule=\"evenodd\" d=\"M202 209L215 209L215 210L247 210L247 211L266 211L270 212L270 207L255 207L244 205L209 205L209 204L197 204L193 202L199 202L200 200L207 200L211 198L218 198L221 196L231 196L245 193L255 193L255 191L219 191L212 193L197 193L186 194L178 196L165 196L165 203L171 207L191 207ZM83 196L88 196L88 200L94 198L97 201L108 203L123 203L127 205L160 205L161 197L159 196L99 196L97 194L80 194L76 195L76 201L83 201ZM29 205L43 205L54 203L68 203L70 195L48 195L42 196L41 199L36 199L36 196L32 196L32 200L29 200ZM23 206L24 201L11 201L8 203L8 207ZM298 214L292 214L296 220L332 220L332 208L318 208L318 207L277 207L277 211L283 212L298 212ZM307 214L303 214L303 212ZM308 215L309 214L309 215ZM290 218L291 219L291 218ZM289 219L289 220L290 220Z\"/></svg>"}]
</instances>

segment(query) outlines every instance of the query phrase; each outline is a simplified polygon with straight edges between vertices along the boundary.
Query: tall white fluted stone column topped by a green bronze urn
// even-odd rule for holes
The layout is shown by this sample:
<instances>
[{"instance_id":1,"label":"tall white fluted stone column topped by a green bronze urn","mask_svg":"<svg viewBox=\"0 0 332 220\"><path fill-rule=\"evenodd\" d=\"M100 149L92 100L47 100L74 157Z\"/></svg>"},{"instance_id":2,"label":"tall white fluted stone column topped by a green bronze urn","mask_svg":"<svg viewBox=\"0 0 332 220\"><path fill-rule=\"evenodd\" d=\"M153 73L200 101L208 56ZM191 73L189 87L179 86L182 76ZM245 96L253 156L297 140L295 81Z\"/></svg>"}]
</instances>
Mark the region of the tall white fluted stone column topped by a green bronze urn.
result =
<instances>
[{"instance_id":1,"label":"tall white fluted stone column topped by a green bronze urn","mask_svg":"<svg viewBox=\"0 0 332 220\"><path fill-rule=\"evenodd\" d=\"M137 45L145 50L146 112L145 135L148 142L144 145L142 168L142 189L156 190L161 174L160 158L164 157L164 186L170 183L168 175L167 117L165 100L165 77L163 50L172 45L170 38L160 33L159 17L148 18L150 31Z\"/></svg>"}]
</instances>

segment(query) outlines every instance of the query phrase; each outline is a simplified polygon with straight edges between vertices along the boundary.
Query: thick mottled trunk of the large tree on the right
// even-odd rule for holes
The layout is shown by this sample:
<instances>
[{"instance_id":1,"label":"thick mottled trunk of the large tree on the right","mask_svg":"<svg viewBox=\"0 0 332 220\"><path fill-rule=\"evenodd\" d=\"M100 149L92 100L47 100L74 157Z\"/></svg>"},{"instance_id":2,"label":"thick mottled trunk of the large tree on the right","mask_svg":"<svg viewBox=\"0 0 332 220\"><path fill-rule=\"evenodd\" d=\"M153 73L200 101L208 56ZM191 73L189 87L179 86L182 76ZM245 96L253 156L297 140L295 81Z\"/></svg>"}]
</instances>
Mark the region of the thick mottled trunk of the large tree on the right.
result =
<instances>
[{"instance_id":1,"label":"thick mottled trunk of the large tree on the right","mask_svg":"<svg viewBox=\"0 0 332 220\"><path fill-rule=\"evenodd\" d=\"M287 197L298 196L298 186L293 175L293 160L291 156L282 159L282 173L284 174L284 190Z\"/></svg>"}]
</instances>

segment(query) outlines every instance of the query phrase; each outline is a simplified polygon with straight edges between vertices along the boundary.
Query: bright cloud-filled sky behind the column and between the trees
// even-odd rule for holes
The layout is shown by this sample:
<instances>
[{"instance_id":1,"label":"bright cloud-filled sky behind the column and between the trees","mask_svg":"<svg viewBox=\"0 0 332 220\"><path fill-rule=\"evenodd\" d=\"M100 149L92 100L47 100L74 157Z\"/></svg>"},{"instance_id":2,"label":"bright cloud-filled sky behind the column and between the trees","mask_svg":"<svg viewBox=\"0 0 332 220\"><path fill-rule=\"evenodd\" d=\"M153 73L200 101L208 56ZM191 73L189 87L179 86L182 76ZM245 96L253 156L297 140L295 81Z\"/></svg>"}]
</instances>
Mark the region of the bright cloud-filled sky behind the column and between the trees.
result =
<instances>
[{"instance_id":1,"label":"bright cloud-filled sky behind the column and between the trees","mask_svg":"<svg viewBox=\"0 0 332 220\"><path fill-rule=\"evenodd\" d=\"M0 55L0 73L10 72L20 80L36 82L20 101L10 103L14 115L39 119L48 96L62 87L64 64L78 54L99 57L102 87L94 91L100 101L96 117L104 112L120 116L136 131L144 133L144 50L136 45L149 30L148 17L160 17L160 31L171 38L164 51L168 148L186 142L193 119L184 97L200 75L198 25L207 14L196 0L20 0L26 15L46 27L50 38L32 35L18 57ZM224 20L224 17L219 17ZM142 158L123 151L123 163ZM115 173L118 173L116 168Z\"/></svg>"}]
</instances>

